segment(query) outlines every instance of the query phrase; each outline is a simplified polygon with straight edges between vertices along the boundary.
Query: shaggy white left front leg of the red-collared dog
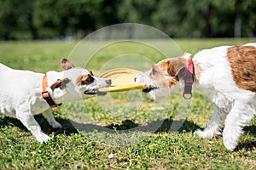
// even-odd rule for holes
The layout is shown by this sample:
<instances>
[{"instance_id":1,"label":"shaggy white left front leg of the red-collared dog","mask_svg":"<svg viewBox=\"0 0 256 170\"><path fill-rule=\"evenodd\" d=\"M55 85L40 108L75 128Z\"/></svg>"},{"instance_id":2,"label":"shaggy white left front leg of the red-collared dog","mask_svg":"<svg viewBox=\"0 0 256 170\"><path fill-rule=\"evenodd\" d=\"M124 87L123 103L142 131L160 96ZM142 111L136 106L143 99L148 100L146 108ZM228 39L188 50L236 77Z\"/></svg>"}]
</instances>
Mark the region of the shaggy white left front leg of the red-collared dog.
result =
<instances>
[{"instance_id":1,"label":"shaggy white left front leg of the red-collared dog","mask_svg":"<svg viewBox=\"0 0 256 170\"><path fill-rule=\"evenodd\" d=\"M197 129L195 134L203 139L212 139L214 136L221 134L221 128L224 126L226 113L215 105L211 121L208 122L204 130Z\"/></svg>"}]
</instances>

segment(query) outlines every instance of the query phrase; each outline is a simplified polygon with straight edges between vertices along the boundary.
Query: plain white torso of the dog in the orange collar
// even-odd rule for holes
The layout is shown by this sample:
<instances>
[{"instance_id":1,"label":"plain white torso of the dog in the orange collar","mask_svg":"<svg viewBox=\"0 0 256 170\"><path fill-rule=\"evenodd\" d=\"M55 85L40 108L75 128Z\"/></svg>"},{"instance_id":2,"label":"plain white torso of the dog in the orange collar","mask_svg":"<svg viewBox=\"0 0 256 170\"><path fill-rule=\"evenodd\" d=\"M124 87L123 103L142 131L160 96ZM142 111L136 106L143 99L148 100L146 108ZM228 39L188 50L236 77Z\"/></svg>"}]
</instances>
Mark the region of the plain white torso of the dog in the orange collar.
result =
<instances>
[{"instance_id":1,"label":"plain white torso of the dog in the orange collar","mask_svg":"<svg viewBox=\"0 0 256 170\"><path fill-rule=\"evenodd\" d=\"M20 102L41 95L42 77L40 73L14 70L0 64L0 113L15 116L15 109Z\"/></svg>"}]
</instances>

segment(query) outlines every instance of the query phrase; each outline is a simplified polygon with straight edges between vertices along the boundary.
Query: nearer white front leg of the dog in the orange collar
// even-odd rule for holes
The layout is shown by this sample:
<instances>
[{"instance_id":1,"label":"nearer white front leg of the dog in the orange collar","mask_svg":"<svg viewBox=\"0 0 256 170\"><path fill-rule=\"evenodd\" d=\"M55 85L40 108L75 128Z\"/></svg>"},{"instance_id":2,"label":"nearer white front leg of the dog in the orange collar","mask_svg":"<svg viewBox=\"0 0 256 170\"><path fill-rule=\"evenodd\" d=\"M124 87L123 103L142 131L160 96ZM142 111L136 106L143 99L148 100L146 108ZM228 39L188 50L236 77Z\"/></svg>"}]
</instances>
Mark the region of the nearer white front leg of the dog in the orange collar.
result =
<instances>
[{"instance_id":1,"label":"nearer white front leg of the dog in the orange collar","mask_svg":"<svg viewBox=\"0 0 256 170\"><path fill-rule=\"evenodd\" d=\"M49 136L42 132L41 127L30 111L16 111L16 117L32 133L38 142L49 140Z\"/></svg>"}]
</instances>

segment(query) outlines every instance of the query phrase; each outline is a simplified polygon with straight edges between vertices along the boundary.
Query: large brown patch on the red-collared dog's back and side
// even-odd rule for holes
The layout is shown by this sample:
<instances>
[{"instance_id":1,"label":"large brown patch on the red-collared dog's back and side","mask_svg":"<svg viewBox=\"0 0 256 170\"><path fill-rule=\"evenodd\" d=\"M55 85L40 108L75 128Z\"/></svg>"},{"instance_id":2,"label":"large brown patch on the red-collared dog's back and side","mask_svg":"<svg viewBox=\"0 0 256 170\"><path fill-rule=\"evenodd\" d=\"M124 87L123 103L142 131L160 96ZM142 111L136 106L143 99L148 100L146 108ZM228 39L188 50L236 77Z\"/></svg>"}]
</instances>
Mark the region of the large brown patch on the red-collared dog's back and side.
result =
<instances>
[{"instance_id":1,"label":"large brown patch on the red-collared dog's back and side","mask_svg":"<svg viewBox=\"0 0 256 170\"><path fill-rule=\"evenodd\" d=\"M256 92L256 48L253 46L228 48L228 59L236 85Z\"/></svg>"}]
</instances>

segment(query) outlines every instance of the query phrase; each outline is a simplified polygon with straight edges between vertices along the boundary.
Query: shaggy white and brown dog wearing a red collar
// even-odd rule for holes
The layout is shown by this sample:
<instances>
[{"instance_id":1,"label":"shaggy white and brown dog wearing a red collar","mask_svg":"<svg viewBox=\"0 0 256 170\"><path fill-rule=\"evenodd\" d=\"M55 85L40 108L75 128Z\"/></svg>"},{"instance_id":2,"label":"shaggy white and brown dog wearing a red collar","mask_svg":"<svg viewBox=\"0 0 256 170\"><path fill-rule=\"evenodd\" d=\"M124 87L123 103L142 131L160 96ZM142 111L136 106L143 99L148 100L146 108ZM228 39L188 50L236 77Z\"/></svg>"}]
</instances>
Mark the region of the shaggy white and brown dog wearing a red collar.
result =
<instances>
[{"instance_id":1,"label":"shaggy white and brown dog wearing a red collar","mask_svg":"<svg viewBox=\"0 0 256 170\"><path fill-rule=\"evenodd\" d=\"M195 133L203 139L222 133L226 149L235 150L242 128L256 114L256 43L204 49L193 59L190 55L163 59L136 82L148 84L143 92L150 98L164 88L186 99L192 89L205 94L215 106L213 116Z\"/></svg>"}]
</instances>

